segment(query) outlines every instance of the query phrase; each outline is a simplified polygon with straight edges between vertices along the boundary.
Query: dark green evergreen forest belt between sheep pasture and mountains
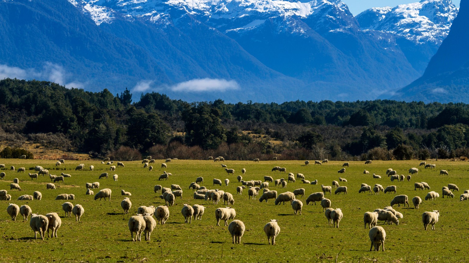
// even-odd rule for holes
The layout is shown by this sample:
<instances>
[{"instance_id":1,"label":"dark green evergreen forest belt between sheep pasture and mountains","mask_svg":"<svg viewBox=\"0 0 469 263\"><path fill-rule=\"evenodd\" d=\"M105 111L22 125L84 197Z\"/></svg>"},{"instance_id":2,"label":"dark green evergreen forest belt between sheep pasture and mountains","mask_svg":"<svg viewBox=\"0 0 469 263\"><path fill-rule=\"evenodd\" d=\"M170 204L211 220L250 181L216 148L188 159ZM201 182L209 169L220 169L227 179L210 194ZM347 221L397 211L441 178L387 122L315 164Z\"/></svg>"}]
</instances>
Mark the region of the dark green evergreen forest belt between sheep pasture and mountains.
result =
<instances>
[{"instance_id":1,"label":"dark green evergreen forest belt between sheep pasture and mountains","mask_svg":"<svg viewBox=\"0 0 469 263\"><path fill-rule=\"evenodd\" d=\"M469 104L138 101L37 80L0 80L0 142L113 156L228 160L404 160L469 156ZM8 147L8 149L9 149ZM5 151L2 151L4 153ZM11 151L9 150L11 155ZM8 157L0 154L0 157Z\"/></svg>"}]
</instances>

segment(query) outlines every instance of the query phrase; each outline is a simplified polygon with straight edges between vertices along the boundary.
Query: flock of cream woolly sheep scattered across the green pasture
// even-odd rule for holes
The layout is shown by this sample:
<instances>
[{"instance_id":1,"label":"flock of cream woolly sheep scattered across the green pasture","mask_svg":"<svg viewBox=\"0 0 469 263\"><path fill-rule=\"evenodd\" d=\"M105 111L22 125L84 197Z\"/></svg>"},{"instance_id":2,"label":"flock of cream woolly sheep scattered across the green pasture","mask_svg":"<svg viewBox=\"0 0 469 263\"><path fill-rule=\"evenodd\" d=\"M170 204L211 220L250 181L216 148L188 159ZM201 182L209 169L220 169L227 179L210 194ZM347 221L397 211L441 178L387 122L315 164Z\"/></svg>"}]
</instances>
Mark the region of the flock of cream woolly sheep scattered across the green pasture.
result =
<instances>
[{"instance_id":1,"label":"flock of cream woolly sheep scattered across the green pasture","mask_svg":"<svg viewBox=\"0 0 469 263\"><path fill-rule=\"evenodd\" d=\"M275 158L276 159L276 158ZM167 163L171 162L172 159L166 159L165 163L161 164L161 168L167 168ZM174 159L173 159L174 160ZM217 158L212 158L209 157L209 160L213 160L215 162L217 161L224 161L225 159L223 157L217 157ZM254 159L253 161L258 162L258 159ZM150 165L151 163L155 163L156 161L154 159L151 159L151 156L148 156L146 159L142 161L142 164L144 164L144 168L148 168L150 171L152 170L152 166ZM323 163L327 163L328 160L323 160L323 161L315 161L315 164L322 165ZM55 163L55 166L61 166L64 163L64 160L57 161ZM102 161L103 164L110 165L109 170L110 171L115 171L116 166L113 166L113 161L110 161L109 158L106 158L104 161ZM309 165L309 161L305 161L305 165ZM365 164L371 164L372 161L368 160L365 162ZM228 175L234 175L235 171L234 169L229 169L227 168L226 165L222 164L222 168L225 168L225 171L227 172ZM436 166L434 164L426 164L425 162L421 162L419 166L424 166L424 168L435 168ZM75 171L83 170L84 169L84 164L79 164ZM122 167L124 168L125 165L122 162L117 162L117 167ZM342 168L338 171L338 173L345 173L346 168L349 167L349 163L346 162L342 165ZM0 168L6 168L4 164L0 164ZM94 170L94 166L89 167L91 171ZM10 171L16 171L16 173L25 173L25 168L18 168L15 169L15 167L11 166ZM37 173L28 173L29 177L31 180L36 179L38 180L39 175L47 175L49 176L51 182L56 183L56 182L62 182L64 183L64 178L65 177L71 177L71 175L61 173L60 176L56 175L51 175L47 169L42 168L41 166L36 166L35 171ZM306 197L305 192L306 190L304 188L299 188L296 190L293 190L293 192L287 191L285 193L280 193L278 194L277 191L275 190L269 190L268 187L270 183L274 183L276 187L282 187L286 188L288 183L295 183L297 179L300 179L303 184L318 184L318 180L314 180L312 182L308 181L305 179L305 176L301 173L296 174L296 177L293 173L288 173L287 174L287 168L281 168L281 167L274 167L272 168L273 171L278 171L278 172L283 172L287 176L287 180L284 178L280 178L277 180L274 180L271 176L264 176L264 181L262 180L250 180L250 181L244 181L242 175L246 173L246 169L243 168L240 172L241 174L236 177L237 183L240 183L239 186L236 187L236 192L237 195L242 195L243 189L248 189L248 199L256 199L259 195L260 197L258 198L259 202L268 202L269 199L273 199L275 205L280 205L283 204L285 205L285 202L290 202L292 205L292 209L295 213L295 215L302 214L302 209L303 209L303 202L300 199L300 197ZM367 170L363 171L363 174L369 174L370 172ZM418 174L418 168L410 168L408 170L408 173L411 175ZM386 170L386 175L390 177L391 182L394 180L397 181L404 181L407 179L408 182L411 181L412 176L411 175L398 175L398 173L393 170L392 168L389 168ZM448 175L448 172L446 170L440 170L440 175ZM0 173L0 178L4 179L6 177L5 172ZM99 175L99 179L101 178L108 178L109 174L108 173L102 173ZM165 171L164 174L159 176L159 181L160 180L169 180L170 178L173 178L171 173L168 173ZM373 178L381 178L379 175L373 174ZM113 175L113 180L117 181L118 180L118 175ZM19 186L18 178L15 178L14 183L10 184L10 190L21 190L21 187ZM323 208L323 212L325 213L325 217L328 220L329 224L333 224L334 227L339 227L340 220L343 218L343 213L340 208L333 209L331 208L332 206L332 201L328 198L325 198L325 194L328 192L330 195L332 194L332 190L335 189L334 194L347 194L348 193L348 187L347 186L340 186L340 183L342 182L347 182L347 179L339 177L338 181L333 181L332 186L325 186L324 184L321 185L321 192L315 192L310 194L306 198L306 205L309 205L310 203L316 205L316 202L319 202L320 205ZM55 189L55 185L53 183L47 183L46 189ZM223 200L223 204L228 204L228 205L233 205L234 204L234 197L231 193L225 192L223 190L219 189L212 189L209 190L205 186L200 186L201 183L204 183L204 178L203 177L197 177L195 179L195 182L190 183L189 189L193 190L193 198L195 200L204 200L204 201L210 201L212 204L217 205L219 201ZM225 186L228 186L230 181L228 179L225 179L224 181L214 178L212 180L212 186L222 186L222 184L225 184ZM111 200L111 195L112 195L112 190L109 188L106 189L101 189L99 190L96 194L94 194L93 189L99 189L100 183L95 182L95 183L86 183L86 195L94 195L94 200L101 200L106 198L110 201ZM425 190L428 189L430 190L430 186L425 183L425 182L420 182L420 183L414 183L415 190ZM384 188L380 184L375 184L374 186L367 185L366 183L362 183L361 186L358 188L359 193L366 193L366 192L374 192L375 195L379 195L380 192L386 193L397 193L397 187L395 185L390 185ZM182 187L179 186L178 184L171 184L170 188L165 188L162 187L161 185L157 184L153 187L153 190L155 193L160 193L161 195L159 196L161 199L163 199L166 202L166 205L160 205L158 207L154 206L140 206L137 209L136 215L133 215L130 217L128 226L129 226L129 231L132 237L133 241L141 241L141 234L144 233L144 238L145 240L150 240L151 238L151 232L158 224L164 225L166 220L169 218L169 209L168 206L173 206L174 202L176 200L176 197L180 197L182 199ZM262 192L261 192L262 190ZM451 190L457 190L459 191L459 188L455 184L448 184L447 187L443 187L442 189L442 197L444 198L445 196L449 197L454 197L454 194L452 193ZM127 192L125 190L121 190L121 195L122 196L131 196L130 192ZM439 197L439 193L435 191L429 192L425 196L425 200L434 200L435 198ZM11 195L8 194L7 190L0 190L0 200L11 200ZM18 200L33 200L37 199L40 200L42 198L42 194L39 191L35 191L32 196L30 195L22 195L18 197ZM74 194L60 194L56 198L56 200L74 200L75 195ZM460 196L460 200L468 200L469 199L469 190L465 190L463 194ZM422 203L421 197L413 197L412 198L412 203L415 206L416 209L419 208L419 205ZM382 245L383 248L382 250L384 251L384 242L386 240L386 231L382 226L377 226L378 221L385 221L385 224L395 224L399 225L399 219L403 218L403 215L401 212L398 212L393 209L394 205L398 206L409 206L409 200L407 195L397 195L395 196L391 201L390 205L387 207L384 207L384 209L376 209L373 212L365 212L363 216L363 222L365 229L367 226L370 228L369 231L369 237L371 241L371 248L370 251L374 248L374 250L379 250L380 246ZM121 201L121 207L124 210L124 214L128 214L129 210L132 207L132 203L129 199L129 197L125 197ZM181 210L182 216L185 219L185 223L192 223L192 217L194 220L202 220L202 216L205 212L205 208L203 205L188 205L184 204ZM76 221L80 221L81 216L84 213L84 208L82 205L73 205L70 202L66 202L62 204L62 210L66 213L67 216L71 216L71 213L73 213L76 216ZM8 214L11 216L12 220L15 220L18 214L23 215L24 220L28 220L28 217L30 216L30 227L35 233L35 238L37 238L37 232L41 235L41 238L44 239L45 237L45 232L47 231L47 236L49 236L49 230L52 230L52 237L57 237L57 229L61 227L61 218L58 216L56 212L51 212L46 215L40 215L40 214L35 214L32 213L31 208L28 205L23 205L19 207L18 205L15 204L9 204L7 208ZM243 236L245 232L245 225L241 220L234 219L236 216L236 211L232 206L229 207L220 207L215 209L215 219L217 220L217 226L219 226L220 220L224 221L224 225L228 226L228 231L231 234L233 238L233 243L241 243L241 237ZM155 220L156 219L156 220ZM439 211L431 211L431 212L424 212L422 214L422 222L424 224L424 229L427 230L427 226L431 225L431 229L435 230L435 224L438 222L439 219ZM232 220L230 224L228 224L228 220ZM264 226L264 232L267 236L269 244L272 243L272 245L275 245L275 238L276 236L280 233L280 226L278 225L278 221L276 219L271 219L270 222L268 222ZM135 233L135 237L134 237ZM271 241L272 240L272 241Z\"/></svg>"}]
</instances>

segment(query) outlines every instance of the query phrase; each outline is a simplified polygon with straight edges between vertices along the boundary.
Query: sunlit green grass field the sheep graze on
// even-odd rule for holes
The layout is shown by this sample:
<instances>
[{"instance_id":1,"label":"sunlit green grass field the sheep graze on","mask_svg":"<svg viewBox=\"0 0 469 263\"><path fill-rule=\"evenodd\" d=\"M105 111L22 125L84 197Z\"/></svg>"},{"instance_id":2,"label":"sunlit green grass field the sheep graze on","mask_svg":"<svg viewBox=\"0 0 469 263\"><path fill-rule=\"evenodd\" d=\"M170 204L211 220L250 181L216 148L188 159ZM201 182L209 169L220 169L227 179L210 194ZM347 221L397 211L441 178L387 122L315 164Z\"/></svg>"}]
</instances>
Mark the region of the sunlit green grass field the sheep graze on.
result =
<instances>
[{"instance_id":1,"label":"sunlit green grass field the sheep graze on","mask_svg":"<svg viewBox=\"0 0 469 263\"><path fill-rule=\"evenodd\" d=\"M75 171L78 163L85 164L86 170ZM345 174L338 174L343 162L330 161L324 165L310 164L305 166L303 161L225 161L228 168L235 170L234 175L227 175L220 163L213 161L185 161L173 160L168 168L159 168L157 161L153 171L144 169L141 162L125 162L125 168L117 168L119 175L114 182L114 172L108 171L109 166L100 161L66 161L59 170L55 170L55 161L43 160L5 160L9 169L25 167L26 173L6 172L6 179L0 181L0 190L8 190L11 201L0 201L0 226L2 233L1 262L465 262L469 245L469 202L459 201L463 190L469 189L469 163L462 161L429 161L436 163L436 169L418 167L420 161L373 161L371 165L363 162L350 162ZM313 161L314 163L314 161ZM116 163L114 163L116 164ZM53 175L61 172L69 173L71 178L65 178L65 183L55 183L55 190L46 190L45 184L50 183L48 177L39 176L31 181L28 169L35 165L48 168ZM89 171L94 165L95 171ZM303 201L303 214L294 215L291 205L274 205L273 200L260 203L258 200L248 200L247 190L242 196L236 195L236 187L241 185L236 176L241 169L246 168L243 175L247 180L263 180L264 175L274 179L285 178L287 174L271 172L272 167L287 168L287 173L303 173L307 180L318 179L318 185L303 184L300 181L288 183L286 189L277 188L273 183L270 190L277 190L279 194L298 188L306 189ZM393 168L399 174L408 175L411 167L419 168L418 175L412 175L410 182L391 182L386 176L386 169ZM62 170L66 169L66 170ZM363 170L370 171L364 175ZM439 176L439 170L446 169L449 176ZM163 170L171 172L172 177L167 181L158 181ZM102 172L109 172L109 179L98 179ZM31 171L29 171L31 172ZM381 175L381 179L373 179L372 174ZM227 226L216 226L214 211L218 207L225 207L222 202L213 205L210 201L194 200L189 184L196 177L203 176L208 189L221 189L233 194L236 218L242 220L246 232L242 237L242 244L232 244ZM348 195L326 195L331 199L333 208L341 208L344 214L339 228L327 224L323 209L319 205L306 205L306 198L313 192L321 191L321 184L332 185L339 176L348 182L340 183L348 187ZM9 190L9 184L14 178L20 179L21 191ZM224 180L228 178L228 186L212 186L212 179ZM427 192L415 191L414 183L426 182L431 190L437 191L440 198L435 201L423 201L420 209L414 209L411 199L420 196L423 200ZM100 182L100 189L110 188L113 191L111 201L95 201L93 196L85 195L85 183ZM121 209L121 189L132 193L131 213L134 214L140 205L164 205L159 194L153 192L153 186L161 184L169 187L171 184L181 185L183 198L177 197L176 204L170 207L170 216L165 225L157 225L151 235L151 241L132 242L130 238L128 220L130 215L124 215ZM397 194L405 194L409 198L411 207L397 207L394 209L404 215L399 226L383 226L386 230L385 252L369 252L369 229L363 227L363 213L388 206L396 194L378 196L368 193L358 193L361 183L374 185L379 183L386 188L397 185ZM455 191L454 198L441 198L441 188L448 183L457 184L460 191ZM17 197L34 191L42 193L42 200L19 201ZM95 190L97 193L98 190ZM71 200L74 205L83 205L85 213L78 223L75 217L64 218L61 204L65 201L54 200L59 194L75 194ZM260 197L260 196L259 196ZM16 221L11 221L6 208L8 203L19 206L27 204L34 213L46 214L58 212L62 219L62 226L58 230L58 238L35 240L29 221L23 221L21 215ZM205 213L202 220L192 220L192 224L184 224L181 214L182 205L204 205ZM436 231L424 231L422 213L439 210L440 218ZM281 228L276 239L276 245L267 243L263 227L269 219L278 219ZM430 227L429 227L430 229ZM340 252L341 251L341 252ZM33 252L33 253L31 253ZM340 253L339 253L340 252Z\"/></svg>"}]
</instances>

